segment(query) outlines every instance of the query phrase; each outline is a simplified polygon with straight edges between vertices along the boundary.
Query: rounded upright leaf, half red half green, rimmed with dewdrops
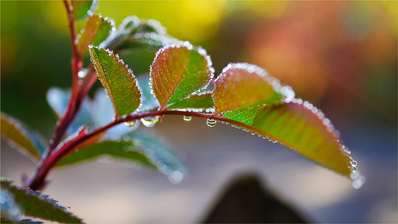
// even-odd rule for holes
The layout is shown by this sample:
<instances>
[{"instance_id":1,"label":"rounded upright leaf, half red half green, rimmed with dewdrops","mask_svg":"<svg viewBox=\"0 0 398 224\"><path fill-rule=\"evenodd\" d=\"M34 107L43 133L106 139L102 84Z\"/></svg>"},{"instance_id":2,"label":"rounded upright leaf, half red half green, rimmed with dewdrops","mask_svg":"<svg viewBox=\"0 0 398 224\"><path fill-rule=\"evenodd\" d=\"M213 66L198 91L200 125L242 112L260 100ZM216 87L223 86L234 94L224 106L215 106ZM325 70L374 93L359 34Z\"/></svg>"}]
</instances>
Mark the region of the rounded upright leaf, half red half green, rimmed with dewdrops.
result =
<instances>
[{"instance_id":1,"label":"rounded upright leaf, half red half green, rimmed with dewdrops","mask_svg":"<svg viewBox=\"0 0 398 224\"><path fill-rule=\"evenodd\" d=\"M161 109L206 88L213 73L210 56L204 49L194 49L188 41L160 49L150 74Z\"/></svg>"}]
</instances>

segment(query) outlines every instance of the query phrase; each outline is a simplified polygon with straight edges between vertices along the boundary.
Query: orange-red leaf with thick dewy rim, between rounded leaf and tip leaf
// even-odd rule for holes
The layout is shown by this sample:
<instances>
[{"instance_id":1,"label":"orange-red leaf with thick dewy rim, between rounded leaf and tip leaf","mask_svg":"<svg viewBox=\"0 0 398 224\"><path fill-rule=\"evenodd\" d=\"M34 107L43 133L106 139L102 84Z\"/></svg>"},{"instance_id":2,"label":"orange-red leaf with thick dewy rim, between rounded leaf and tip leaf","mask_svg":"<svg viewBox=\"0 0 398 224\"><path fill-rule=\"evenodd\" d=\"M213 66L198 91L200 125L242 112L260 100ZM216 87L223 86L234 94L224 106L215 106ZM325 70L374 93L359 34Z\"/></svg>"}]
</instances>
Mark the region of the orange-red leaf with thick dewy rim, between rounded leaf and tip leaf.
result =
<instances>
[{"instance_id":1,"label":"orange-red leaf with thick dewy rim, between rounded leaf and tip leaf","mask_svg":"<svg viewBox=\"0 0 398 224\"><path fill-rule=\"evenodd\" d=\"M290 102L295 92L270 77L260 67L246 63L229 64L215 80L213 99L217 113L261 105Z\"/></svg>"}]
</instances>

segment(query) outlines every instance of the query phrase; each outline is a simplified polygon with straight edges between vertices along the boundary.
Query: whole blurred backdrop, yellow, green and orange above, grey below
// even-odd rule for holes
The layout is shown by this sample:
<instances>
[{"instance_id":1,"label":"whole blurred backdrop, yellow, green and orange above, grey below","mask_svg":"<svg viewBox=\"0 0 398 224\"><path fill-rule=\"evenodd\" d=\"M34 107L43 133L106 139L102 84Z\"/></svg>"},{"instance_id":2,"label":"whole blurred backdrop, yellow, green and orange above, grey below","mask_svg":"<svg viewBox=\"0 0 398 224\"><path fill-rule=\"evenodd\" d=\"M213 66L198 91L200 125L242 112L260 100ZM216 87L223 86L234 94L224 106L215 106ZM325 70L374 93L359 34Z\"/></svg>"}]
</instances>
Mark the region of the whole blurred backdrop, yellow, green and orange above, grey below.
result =
<instances>
[{"instance_id":1,"label":"whole blurred backdrop, yellow, green and orange above, grey below","mask_svg":"<svg viewBox=\"0 0 398 224\"><path fill-rule=\"evenodd\" d=\"M49 138L57 118L46 92L71 85L64 5L0 7L1 111ZM256 173L308 222L397 223L397 8L397 1L100 1L97 12L117 25L128 15L154 18L170 35L201 45L215 75L229 62L248 62L292 86L341 131L366 183L355 190L288 148L225 124L167 116L139 129L159 135L187 164L181 183L93 161L54 170L45 193L88 223L197 223L228 182ZM121 58L144 73L155 53ZM34 168L1 141L2 177L20 184Z\"/></svg>"}]
</instances>

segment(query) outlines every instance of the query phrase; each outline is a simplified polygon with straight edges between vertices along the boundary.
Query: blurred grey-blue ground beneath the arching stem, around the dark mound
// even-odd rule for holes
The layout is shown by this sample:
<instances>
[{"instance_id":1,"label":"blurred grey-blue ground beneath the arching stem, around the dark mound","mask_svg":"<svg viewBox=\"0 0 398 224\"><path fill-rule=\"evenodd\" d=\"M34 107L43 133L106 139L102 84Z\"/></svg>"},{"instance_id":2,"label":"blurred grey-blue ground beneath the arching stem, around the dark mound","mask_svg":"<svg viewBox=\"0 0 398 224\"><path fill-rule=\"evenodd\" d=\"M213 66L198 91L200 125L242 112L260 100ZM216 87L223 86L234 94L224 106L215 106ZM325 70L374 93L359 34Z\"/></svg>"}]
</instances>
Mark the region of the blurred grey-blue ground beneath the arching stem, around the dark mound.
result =
<instances>
[{"instance_id":1,"label":"blurred grey-blue ground beneath the arching stem, around the dark mound","mask_svg":"<svg viewBox=\"0 0 398 224\"><path fill-rule=\"evenodd\" d=\"M224 184L255 172L303 217L318 223L397 223L397 128L368 123L336 125L366 176L351 181L295 152L226 124L208 127L166 116L146 129L164 137L189 168L180 184L152 170L88 162L53 170L45 189L88 223L196 223L213 207ZM35 165L1 141L1 176L20 184Z\"/></svg>"}]
</instances>

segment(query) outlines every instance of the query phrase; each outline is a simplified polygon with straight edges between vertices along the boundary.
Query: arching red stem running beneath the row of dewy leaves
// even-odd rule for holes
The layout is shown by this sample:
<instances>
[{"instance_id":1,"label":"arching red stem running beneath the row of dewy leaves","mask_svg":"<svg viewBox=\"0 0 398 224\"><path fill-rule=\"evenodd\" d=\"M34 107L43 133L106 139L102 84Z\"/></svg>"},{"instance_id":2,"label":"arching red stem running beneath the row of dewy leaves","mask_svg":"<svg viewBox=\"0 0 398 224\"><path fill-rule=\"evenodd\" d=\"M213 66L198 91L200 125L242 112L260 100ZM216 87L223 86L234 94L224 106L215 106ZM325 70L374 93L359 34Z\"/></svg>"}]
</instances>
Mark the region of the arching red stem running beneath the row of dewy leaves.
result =
<instances>
[{"instance_id":1,"label":"arching red stem running beneath the row of dewy leaves","mask_svg":"<svg viewBox=\"0 0 398 224\"><path fill-rule=\"evenodd\" d=\"M245 128L249 128L249 125L246 125L244 123L240 123L235 120L231 120L228 118L220 117L215 114L208 114L208 113L200 113L200 112L187 112L187 111L154 111L154 112L146 112L146 113L140 113L140 114L129 114L125 118L116 118L113 122L108 123L105 126L99 127L90 133L79 133L77 137L74 139L66 142L62 147L60 147L58 150L54 150L52 153L48 154L47 158L39 164L37 167L36 171L33 174L33 177L31 178L31 182L28 183L28 187L31 188L32 190L37 190L39 189L43 183L44 180L51 170L52 167L54 167L57 162L59 162L62 158L64 158L68 153L70 153L72 150L75 150L76 146L79 144L83 143L86 140L89 140L90 138L100 134L103 131L106 131L107 129L120 124L122 122L127 122L127 121L133 121L137 120L140 118L144 117L149 117L149 116L163 116L163 115L185 115L185 116L196 116L196 117L202 117L202 118L213 118L216 120L221 120L225 122L230 122L232 124L236 124Z\"/></svg>"}]
</instances>

